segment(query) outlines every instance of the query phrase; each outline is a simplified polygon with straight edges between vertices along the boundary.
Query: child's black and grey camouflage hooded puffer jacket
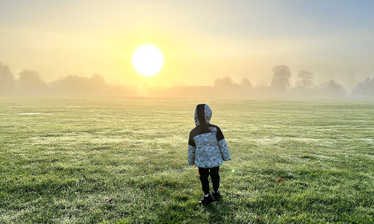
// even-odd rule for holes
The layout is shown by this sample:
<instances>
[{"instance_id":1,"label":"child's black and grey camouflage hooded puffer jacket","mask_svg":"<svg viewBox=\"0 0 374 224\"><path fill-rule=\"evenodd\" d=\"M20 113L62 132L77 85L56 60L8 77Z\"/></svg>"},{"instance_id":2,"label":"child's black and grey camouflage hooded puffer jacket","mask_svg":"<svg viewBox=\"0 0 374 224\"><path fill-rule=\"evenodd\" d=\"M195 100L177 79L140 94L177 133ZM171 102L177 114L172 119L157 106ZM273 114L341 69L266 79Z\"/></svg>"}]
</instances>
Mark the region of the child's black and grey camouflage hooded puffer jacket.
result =
<instances>
[{"instance_id":1,"label":"child's black and grey camouflage hooded puffer jacket","mask_svg":"<svg viewBox=\"0 0 374 224\"><path fill-rule=\"evenodd\" d=\"M206 104L197 105L194 118L196 127L188 140L188 165L213 168L229 161L231 156L221 129L209 123L211 108Z\"/></svg>"}]
</instances>

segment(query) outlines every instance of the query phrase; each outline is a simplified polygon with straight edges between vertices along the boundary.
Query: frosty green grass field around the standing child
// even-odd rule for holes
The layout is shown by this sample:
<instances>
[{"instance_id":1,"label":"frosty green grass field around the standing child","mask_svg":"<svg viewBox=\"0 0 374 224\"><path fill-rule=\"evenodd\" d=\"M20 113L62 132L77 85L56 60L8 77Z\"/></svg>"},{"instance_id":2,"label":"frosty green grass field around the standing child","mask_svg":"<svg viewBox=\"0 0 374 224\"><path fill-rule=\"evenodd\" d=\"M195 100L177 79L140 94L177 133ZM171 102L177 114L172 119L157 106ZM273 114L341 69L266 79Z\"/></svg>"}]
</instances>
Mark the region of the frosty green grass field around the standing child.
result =
<instances>
[{"instance_id":1,"label":"frosty green grass field around the standing child","mask_svg":"<svg viewBox=\"0 0 374 224\"><path fill-rule=\"evenodd\" d=\"M207 207L198 103L232 155ZM0 98L0 223L374 223L373 127L373 101Z\"/></svg>"}]
</instances>

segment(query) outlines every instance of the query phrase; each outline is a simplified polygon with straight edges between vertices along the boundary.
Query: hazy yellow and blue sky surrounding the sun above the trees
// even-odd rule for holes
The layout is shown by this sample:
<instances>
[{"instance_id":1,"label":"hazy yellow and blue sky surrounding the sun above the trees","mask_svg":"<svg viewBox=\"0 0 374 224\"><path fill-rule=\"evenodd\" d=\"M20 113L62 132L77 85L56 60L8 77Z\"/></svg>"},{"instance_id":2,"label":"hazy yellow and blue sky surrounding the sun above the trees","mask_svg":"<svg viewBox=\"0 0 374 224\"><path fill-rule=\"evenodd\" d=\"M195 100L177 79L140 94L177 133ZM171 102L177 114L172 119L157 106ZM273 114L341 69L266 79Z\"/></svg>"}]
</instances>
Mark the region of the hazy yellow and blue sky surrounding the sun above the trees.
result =
<instances>
[{"instance_id":1,"label":"hazy yellow and blue sky surrounding the sun above the trees","mask_svg":"<svg viewBox=\"0 0 374 224\"><path fill-rule=\"evenodd\" d=\"M0 61L18 78L47 83L104 75L108 83L212 85L230 77L270 83L287 65L291 85L308 70L315 84L374 76L374 1L0 1ZM142 44L163 53L159 74L132 65Z\"/></svg>"}]
</instances>

